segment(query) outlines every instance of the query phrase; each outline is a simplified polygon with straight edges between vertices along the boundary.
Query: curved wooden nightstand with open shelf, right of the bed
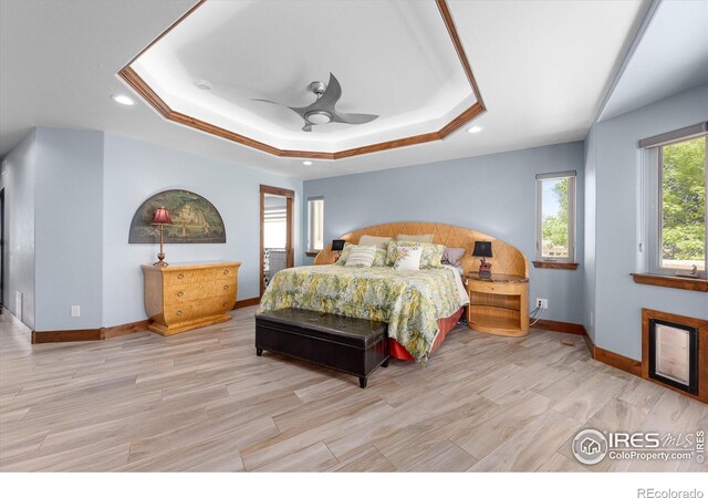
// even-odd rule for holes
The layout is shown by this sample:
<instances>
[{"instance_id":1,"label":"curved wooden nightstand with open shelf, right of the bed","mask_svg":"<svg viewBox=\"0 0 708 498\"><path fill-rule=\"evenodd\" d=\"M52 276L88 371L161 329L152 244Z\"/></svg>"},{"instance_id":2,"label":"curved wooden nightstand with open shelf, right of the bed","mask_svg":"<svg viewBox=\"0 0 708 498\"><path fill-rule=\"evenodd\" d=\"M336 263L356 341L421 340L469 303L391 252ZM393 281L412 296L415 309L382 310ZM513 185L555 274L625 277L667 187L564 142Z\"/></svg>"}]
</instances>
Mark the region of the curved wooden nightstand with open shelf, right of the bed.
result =
<instances>
[{"instance_id":1,"label":"curved wooden nightstand with open shelf, right of the bed","mask_svg":"<svg viewBox=\"0 0 708 498\"><path fill-rule=\"evenodd\" d=\"M467 278L470 329L488 334L520 338L529 333L529 279L516 274L492 273Z\"/></svg>"}]
</instances>

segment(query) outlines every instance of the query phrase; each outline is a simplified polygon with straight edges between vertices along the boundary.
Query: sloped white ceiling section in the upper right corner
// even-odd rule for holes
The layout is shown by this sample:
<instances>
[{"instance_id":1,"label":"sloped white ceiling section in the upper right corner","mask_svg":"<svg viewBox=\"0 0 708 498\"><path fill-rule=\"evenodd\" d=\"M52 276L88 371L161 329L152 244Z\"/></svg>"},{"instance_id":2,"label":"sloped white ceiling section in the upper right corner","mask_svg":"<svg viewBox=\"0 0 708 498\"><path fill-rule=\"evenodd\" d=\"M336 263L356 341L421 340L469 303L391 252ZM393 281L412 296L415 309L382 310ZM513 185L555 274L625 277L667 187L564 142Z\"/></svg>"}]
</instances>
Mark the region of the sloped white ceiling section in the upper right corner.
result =
<instances>
[{"instance_id":1,"label":"sloped white ceiling section in the upper right corner","mask_svg":"<svg viewBox=\"0 0 708 498\"><path fill-rule=\"evenodd\" d=\"M708 1L658 4L601 120L708 83Z\"/></svg>"}]
</instances>

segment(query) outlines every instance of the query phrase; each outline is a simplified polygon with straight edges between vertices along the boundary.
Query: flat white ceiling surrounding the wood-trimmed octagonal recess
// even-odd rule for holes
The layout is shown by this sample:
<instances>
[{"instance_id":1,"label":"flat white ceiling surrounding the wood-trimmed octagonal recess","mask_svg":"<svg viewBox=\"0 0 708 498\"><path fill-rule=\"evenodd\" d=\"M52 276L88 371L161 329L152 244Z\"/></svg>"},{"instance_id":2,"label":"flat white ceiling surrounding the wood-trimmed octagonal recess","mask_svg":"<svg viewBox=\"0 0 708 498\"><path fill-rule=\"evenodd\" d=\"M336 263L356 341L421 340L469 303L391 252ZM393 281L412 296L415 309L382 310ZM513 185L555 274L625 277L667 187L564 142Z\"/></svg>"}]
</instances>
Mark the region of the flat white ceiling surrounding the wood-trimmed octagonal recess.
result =
<instances>
[{"instance_id":1,"label":"flat white ceiling surrounding the wood-trimmed octagonal recess","mask_svg":"<svg viewBox=\"0 0 708 498\"><path fill-rule=\"evenodd\" d=\"M0 1L0 155L32 126L65 126L105 129L233 164L316 178L583 139L648 4L646 0L450 0L488 108L476 120L485 131L475 135L460 131L442 142L304 166L300 159L275 157L166 122L142 101L124 107L110 98L127 92L116 76L121 68L194 3ZM309 2L301 6L306 9ZM333 37L336 32L333 29ZM266 37L279 39L279 33L269 31L252 43L258 45ZM356 50L352 44L342 56L346 60ZM323 77L319 72L315 77ZM259 74L247 76L257 80ZM303 74L296 80L306 84L311 77ZM351 105L357 112L375 113L358 107L363 97L355 84L342 84L343 101L356 95ZM274 98L279 87L287 92L293 82L270 85L263 97Z\"/></svg>"}]
</instances>

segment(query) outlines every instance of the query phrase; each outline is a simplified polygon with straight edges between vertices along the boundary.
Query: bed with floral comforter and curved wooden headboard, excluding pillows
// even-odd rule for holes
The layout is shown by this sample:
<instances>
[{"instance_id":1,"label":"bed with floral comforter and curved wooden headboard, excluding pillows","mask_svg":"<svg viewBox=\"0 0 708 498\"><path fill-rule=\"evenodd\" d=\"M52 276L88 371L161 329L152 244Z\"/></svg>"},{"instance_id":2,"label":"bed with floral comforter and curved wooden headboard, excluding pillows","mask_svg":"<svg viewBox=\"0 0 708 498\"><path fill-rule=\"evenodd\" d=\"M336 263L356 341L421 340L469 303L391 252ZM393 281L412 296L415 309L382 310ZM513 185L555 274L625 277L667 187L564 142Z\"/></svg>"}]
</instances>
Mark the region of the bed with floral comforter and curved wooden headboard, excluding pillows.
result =
<instances>
[{"instance_id":1,"label":"bed with floral comforter and curved wooden headboard, excluding pillows","mask_svg":"<svg viewBox=\"0 0 708 498\"><path fill-rule=\"evenodd\" d=\"M466 248L460 259L462 276L479 266L471 256L476 240L492 241L492 271L527 274L525 257L493 237L462 227L428 222L386 224L362 228L341 238L356 243L363 235L396 237L433 234L434 242ZM308 309L388 323L389 354L425 363L455 328L469 302L460 270L441 267L395 271L391 267L346 268L335 262L325 247L315 266L278 272L261 298L259 312L283 308Z\"/></svg>"}]
</instances>

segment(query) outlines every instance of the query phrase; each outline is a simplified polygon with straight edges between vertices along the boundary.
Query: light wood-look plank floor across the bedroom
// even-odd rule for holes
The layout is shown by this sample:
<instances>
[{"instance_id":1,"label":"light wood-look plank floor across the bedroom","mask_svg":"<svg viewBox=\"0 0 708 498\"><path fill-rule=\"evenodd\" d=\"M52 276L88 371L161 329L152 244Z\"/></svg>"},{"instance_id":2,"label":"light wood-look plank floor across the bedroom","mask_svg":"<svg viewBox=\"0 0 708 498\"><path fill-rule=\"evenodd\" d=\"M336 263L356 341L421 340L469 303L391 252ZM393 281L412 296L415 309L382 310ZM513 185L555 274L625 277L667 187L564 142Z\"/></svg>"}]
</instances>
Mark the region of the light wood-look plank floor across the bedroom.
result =
<instances>
[{"instance_id":1,"label":"light wood-look plank floor across the bedroom","mask_svg":"<svg viewBox=\"0 0 708 498\"><path fill-rule=\"evenodd\" d=\"M0 469L708 469L575 460L582 427L708 430L707 405L591 360L577 336L459 326L427 366L392 361L361 390L355 377L256 356L254 311L169 338L34 346L0 318Z\"/></svg>"}]
</instances>

